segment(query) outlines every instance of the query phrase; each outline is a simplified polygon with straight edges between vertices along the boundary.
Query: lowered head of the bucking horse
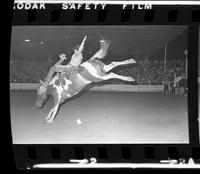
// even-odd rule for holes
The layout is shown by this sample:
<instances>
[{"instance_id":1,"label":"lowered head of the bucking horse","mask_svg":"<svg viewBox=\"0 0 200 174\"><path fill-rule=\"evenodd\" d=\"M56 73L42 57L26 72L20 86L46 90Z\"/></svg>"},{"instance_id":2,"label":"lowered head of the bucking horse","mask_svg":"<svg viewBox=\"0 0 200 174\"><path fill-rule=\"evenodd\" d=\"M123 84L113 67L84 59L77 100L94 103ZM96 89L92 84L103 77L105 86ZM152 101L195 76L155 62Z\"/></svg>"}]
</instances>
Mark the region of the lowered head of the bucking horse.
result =
<instances>
[{"instance_id":1,"label":"lowered head of the bucking horse","mask_svg":"<svg viewBox=\"0 0 200 174\"><path fill-rule=\"evenodd\" d=\"M47 88L44 86L44 82L40 80L40 86L37 88L37 100L36 106L41 108L47 99Z\"/></svg>"}]
</instances>

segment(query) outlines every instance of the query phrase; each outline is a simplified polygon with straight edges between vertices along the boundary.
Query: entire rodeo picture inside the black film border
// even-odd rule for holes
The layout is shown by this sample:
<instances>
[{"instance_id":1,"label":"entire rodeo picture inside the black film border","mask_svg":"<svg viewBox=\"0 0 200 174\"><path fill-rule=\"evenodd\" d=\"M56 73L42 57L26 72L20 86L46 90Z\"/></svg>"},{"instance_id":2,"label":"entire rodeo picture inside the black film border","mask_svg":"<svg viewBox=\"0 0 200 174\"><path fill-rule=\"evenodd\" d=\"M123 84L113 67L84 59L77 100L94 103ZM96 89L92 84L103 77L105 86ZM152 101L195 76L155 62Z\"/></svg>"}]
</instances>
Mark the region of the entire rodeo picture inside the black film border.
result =
<instances>
[{"instance_id":1,"label":"entire rodeo picture inside the black film border","mask_svg":"<svg viewBox=\"0 0 200 174\"><path fill-rule=\"evenodd\" d=\"M187 68L185 26L15 26L13 143L188 143Z\"/></svg>"}]
</instances>

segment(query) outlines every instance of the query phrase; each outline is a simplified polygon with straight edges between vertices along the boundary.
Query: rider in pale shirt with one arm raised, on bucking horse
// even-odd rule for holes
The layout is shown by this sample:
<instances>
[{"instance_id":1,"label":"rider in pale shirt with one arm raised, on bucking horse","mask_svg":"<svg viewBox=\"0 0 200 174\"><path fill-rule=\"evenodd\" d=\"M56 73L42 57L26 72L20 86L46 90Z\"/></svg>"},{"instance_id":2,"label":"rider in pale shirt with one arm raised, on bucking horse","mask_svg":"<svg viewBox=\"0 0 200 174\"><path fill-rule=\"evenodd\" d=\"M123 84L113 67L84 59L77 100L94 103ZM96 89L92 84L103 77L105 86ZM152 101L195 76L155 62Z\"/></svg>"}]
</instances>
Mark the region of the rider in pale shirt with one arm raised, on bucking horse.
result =
<instances>
[{"instance_id":1,"label":"rider in pale shirt with one arm raised, on bucking horse","mask_svg":"<svg viewBox=\"0 0 200 174\"><path fill-rule=\"evenodd\" d=\"M44 86L47 88L49 85L49 82L51 81L53 75L55 72L60 73L59 78L62 82L62 77L65 75L70 75L82 62L83 55L82 55L82 50L84 48L84 43L86 40L87 36L84 37L81 45L77 45L74 48L74 54L71 57L70 62L67 65L61 65L61 63L66 60L66 55L64 53L60 54L60 60L50 68L49 73L45 79ZM69 77L68 77L69 78Z\"/></svg>"}]
</instances>

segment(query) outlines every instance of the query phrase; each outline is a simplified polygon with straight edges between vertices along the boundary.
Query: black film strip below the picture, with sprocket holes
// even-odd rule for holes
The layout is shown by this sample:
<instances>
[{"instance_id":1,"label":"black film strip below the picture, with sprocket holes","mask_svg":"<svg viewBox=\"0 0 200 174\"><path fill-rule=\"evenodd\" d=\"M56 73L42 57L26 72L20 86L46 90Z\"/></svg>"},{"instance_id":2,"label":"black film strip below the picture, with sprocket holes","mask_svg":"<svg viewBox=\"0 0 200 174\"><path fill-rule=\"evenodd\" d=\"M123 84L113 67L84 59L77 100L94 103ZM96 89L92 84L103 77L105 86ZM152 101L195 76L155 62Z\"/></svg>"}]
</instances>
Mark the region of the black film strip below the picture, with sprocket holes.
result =
<instances>
[{"instance_id":1,"label":"black film strip below the picture, with sprocket holes","mask_svg":"<svg viewBox=\"0 0 200 174\"><path fill-rule=\"evenodd\" d=\"M199 164L199 149L199 146L185 144L14 145L19 169L37 169L33 167L37 164L73 164L70 163L71 159L82 161L91 158L96 158L97 164L161 164L162 160L187 164L190 158Z\"/></svg>"}]
</instances>

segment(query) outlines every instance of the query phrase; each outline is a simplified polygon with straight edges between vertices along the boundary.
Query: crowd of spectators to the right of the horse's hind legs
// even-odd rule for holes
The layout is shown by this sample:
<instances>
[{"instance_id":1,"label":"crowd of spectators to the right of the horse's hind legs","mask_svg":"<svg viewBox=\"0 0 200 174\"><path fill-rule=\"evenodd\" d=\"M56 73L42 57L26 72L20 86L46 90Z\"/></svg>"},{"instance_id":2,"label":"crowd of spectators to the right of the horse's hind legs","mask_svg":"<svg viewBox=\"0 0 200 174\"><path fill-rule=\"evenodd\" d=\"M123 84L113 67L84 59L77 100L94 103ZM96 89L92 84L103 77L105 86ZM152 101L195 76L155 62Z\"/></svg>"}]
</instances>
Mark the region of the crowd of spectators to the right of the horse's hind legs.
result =
<instances>
[{"instance_id":1,"label":"crowd of spectators to the right of the horse's hind legs","mask_svg":"<svg viewBox=\"0 0 200 174\"><path fill-rule=\"evenodd\" d=\"M116 72L121 75L131 75L138 85L163 85L163 83L172 83L178 76L185 75L184 60L168 60L166 71L164 66L162 60L140 60L132 67L122 68Z\"/></svg>"}]
</instances>

